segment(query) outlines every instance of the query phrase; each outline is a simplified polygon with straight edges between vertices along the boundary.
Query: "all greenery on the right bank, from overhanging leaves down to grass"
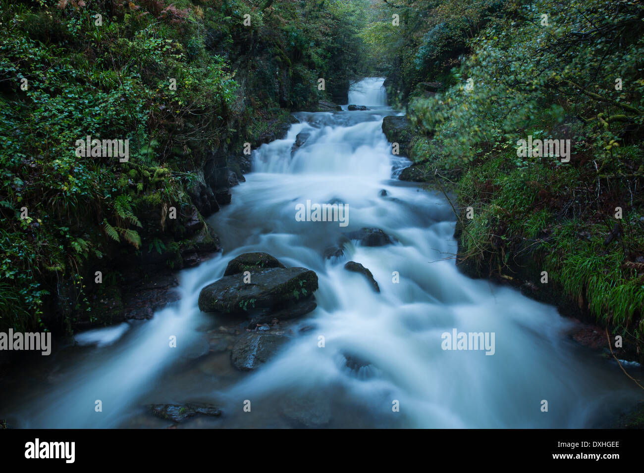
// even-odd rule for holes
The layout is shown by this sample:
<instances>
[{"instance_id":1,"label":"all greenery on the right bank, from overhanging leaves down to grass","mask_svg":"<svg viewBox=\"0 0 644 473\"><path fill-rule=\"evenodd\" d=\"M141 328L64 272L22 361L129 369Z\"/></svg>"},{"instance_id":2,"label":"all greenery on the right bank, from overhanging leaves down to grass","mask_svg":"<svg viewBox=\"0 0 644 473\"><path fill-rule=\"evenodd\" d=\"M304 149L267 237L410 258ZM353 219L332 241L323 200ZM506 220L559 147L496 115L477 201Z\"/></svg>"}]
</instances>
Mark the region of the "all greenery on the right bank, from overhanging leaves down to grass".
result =
<instances>
[{"instance_id":1,"label":"all greenery on the right bank, from overhanging leaves down to grass","mask_svg":"<svg viewBox=\"0 0 644 473\"><path fill-rule=\"evenodd\" d=\"M511 274L515 257L533 255L580 309L641 340L644 201L635 189L644 180L644 7L606 0L408 5L424 5L433 26L417 49L412 41L398 50L396 80L444 81L435 95L410 95L419 135L410 156L440 175L460 174L459 202L475 210L461 222L462 255L500 277ZM629 86L617 89L618 78ZM571 161L518 156L517 141L528 135L569 139Z\"/></svg>"}]
</instances>

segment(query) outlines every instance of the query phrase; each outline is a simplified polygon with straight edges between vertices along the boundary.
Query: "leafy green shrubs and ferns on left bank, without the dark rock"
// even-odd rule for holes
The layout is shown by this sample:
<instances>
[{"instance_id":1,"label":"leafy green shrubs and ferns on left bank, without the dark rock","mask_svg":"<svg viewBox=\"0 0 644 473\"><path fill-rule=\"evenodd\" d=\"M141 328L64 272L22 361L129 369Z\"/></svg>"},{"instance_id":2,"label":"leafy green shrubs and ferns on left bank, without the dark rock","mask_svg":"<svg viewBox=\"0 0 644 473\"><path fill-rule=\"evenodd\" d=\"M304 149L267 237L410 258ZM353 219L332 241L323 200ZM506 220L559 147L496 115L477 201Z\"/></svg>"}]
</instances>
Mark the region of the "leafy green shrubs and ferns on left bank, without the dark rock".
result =
<instances>
[{"instance_id":1,"label":"leafy green shrubs and ferns on left bank, without the dark rock","mask_svg":"<svg viewBox=\"0 0 644 473\"><path fill-rule=\"evenodd\" d=\"M159 185L149 169L173 161L176 147L219 144L230 119L236 83L222 57L205 53L190 3L102 8L43 1L0 9L1 327L39 326L48 293L59 294L82 260L113 254L110 242L139 248L129 227L142 228L133 196ZM76 141L88 135L129 140L129 162L77 156ZM167 166L182 165L194 167ZM188 180L166 172L164 198L185 201ZM82 301L84 290L75 284L72 297Z\"/></svg>"}]
</instances>

